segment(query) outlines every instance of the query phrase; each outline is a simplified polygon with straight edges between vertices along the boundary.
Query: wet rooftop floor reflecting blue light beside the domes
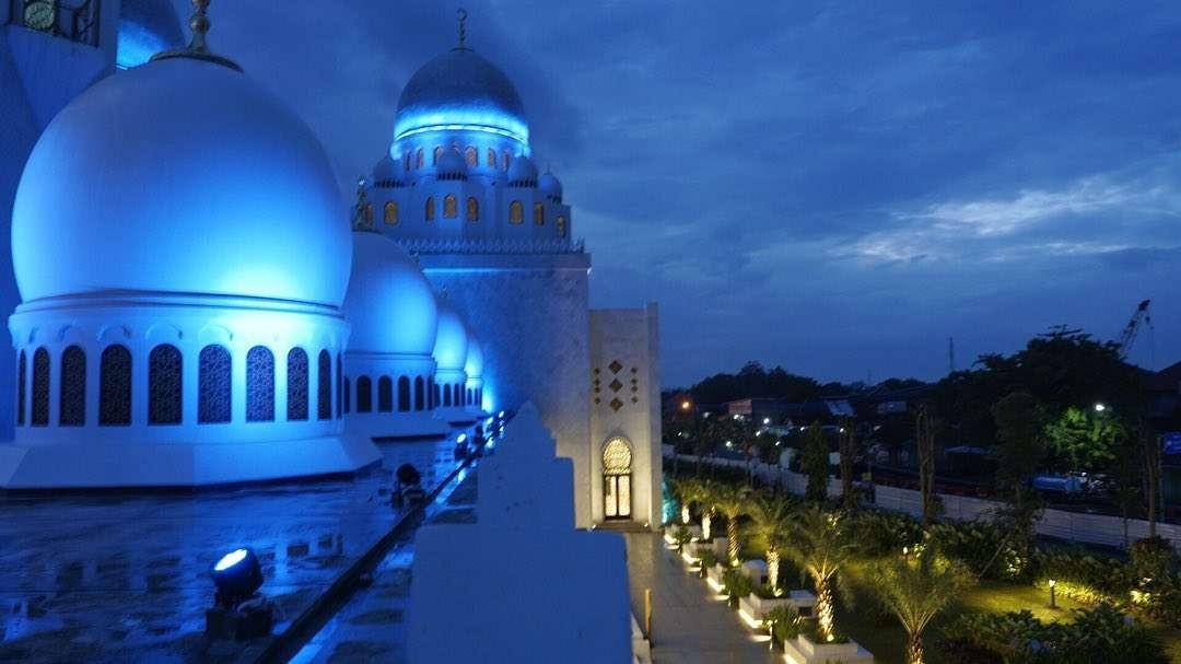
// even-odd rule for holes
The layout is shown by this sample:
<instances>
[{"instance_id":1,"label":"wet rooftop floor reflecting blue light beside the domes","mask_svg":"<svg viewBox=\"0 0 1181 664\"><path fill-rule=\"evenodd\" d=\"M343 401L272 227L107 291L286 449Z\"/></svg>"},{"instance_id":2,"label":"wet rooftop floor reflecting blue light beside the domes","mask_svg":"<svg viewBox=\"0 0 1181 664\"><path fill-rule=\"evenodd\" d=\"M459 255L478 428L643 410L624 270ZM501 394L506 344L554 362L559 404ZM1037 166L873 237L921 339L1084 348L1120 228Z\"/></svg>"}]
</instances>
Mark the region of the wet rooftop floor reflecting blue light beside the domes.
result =
<instances>
[{"instance_id":1,"label":"wet rooftop floor reflecting blue light beside the domes","mask_svg":"<svg viewBox=\"0 0 1181 664\"><path fill-rule=\"evenodd\" d=\"M0 662L233 660L195 651L217 556L255 549L280 632L392 527L392 469L411 463L435 487L456 467L450 440L379 447L380 468L347 480L0 497Z\"/></svg>"}]
</instances>

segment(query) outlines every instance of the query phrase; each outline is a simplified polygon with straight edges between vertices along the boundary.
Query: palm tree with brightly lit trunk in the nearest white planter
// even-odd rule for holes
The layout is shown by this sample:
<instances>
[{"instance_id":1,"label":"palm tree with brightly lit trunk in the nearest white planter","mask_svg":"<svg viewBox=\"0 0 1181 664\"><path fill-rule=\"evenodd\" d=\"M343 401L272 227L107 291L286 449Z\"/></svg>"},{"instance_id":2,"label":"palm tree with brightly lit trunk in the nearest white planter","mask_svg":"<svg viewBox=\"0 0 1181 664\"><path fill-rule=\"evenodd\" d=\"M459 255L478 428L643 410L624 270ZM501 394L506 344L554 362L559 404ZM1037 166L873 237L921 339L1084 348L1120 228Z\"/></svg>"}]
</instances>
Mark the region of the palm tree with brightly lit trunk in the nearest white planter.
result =
<instances>
[{"instance_id":1,"label":"palm tree with brightly lit trunk in the nearest white planter","mask_svg":"<svg viewBox=\"0 0 1181 664\"><path fill-rule=\"evenodd\" d=\"M824 640L833 638L833 579L854 555L840 513L818 506L797 510L788 527L792 546L784 553L813 578L816 586L816 623Z\"/></svg>"}]
</instances>

